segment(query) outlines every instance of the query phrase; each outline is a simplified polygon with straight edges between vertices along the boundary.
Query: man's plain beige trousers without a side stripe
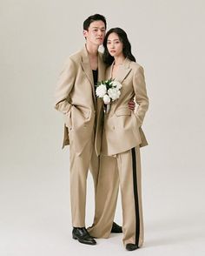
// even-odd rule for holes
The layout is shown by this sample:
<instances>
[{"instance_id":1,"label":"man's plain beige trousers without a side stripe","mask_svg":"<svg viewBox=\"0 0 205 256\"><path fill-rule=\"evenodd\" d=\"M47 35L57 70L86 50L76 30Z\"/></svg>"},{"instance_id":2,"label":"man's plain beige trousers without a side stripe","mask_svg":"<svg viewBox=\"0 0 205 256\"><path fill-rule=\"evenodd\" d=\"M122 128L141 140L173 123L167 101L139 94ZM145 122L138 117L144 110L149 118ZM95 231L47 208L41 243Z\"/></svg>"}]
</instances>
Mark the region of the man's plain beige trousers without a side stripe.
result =
<instances>
[{"instance_id":1,"label":"man's plain beige trousers without a side stripe","mask_svg":"<svg viewBox=\"0 0 205 256\"><path fill-rule=\"evenodd\" d=\"M88 172L94 180L95 200L96 186L99 174L99 158L94 149L94 139L90 139L80 155L76 154L75 146L69 145L69 171L70 171L70 203L72 226L85 226L86 185Z\"/></svg>"}]
</instances>

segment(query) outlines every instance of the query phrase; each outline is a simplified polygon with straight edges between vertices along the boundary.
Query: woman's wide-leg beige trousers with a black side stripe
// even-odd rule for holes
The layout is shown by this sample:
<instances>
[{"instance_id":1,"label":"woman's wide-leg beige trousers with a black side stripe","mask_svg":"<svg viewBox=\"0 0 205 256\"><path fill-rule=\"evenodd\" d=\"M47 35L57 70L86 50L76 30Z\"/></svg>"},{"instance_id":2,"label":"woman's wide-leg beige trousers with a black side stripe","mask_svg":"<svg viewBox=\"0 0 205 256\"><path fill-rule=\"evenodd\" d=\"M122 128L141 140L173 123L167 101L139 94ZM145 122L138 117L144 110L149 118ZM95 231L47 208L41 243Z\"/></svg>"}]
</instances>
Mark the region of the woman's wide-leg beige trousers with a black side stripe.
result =
<instances>
[{"instance_id":1,"label":"woman's wide-leg beige trousers with a black side stripe","mask_svg":"<svg viewBox=\"0 0 205 256\"><path fill-rule=\"evenodd\" d=\"M96 218L89 233L96 238L109 238L116 210L118 182L122 195L123 243L140 247L143 243L143 219L141 158L138 146L117 154L116 158L101 157Z\"/></svg>"}]
</instances>

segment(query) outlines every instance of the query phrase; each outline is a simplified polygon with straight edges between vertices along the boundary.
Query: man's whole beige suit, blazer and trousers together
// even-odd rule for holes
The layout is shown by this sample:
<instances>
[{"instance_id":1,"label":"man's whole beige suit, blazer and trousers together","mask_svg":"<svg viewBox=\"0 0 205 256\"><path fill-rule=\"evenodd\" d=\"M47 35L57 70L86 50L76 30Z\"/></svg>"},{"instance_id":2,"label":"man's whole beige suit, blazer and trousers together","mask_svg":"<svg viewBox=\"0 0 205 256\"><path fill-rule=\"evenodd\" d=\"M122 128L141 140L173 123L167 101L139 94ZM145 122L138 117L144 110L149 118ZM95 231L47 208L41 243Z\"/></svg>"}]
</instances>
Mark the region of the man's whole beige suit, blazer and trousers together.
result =
<instances>
[{"instance_id":1,"label":"man's whole beige suit, blazer and trousers together","mask_svg":"<svg viewBox=\"0 0 205 256\"><path fill-rule=\"evenodd\" d=\"M98 79L104 78L102 54L98 52ZM86 47L68 58L56 86L56 110L64 114L63 146L69 147L70 200L72 225L85 226L86 181L92 173L94 187L98 180L96 111L102 102L96 100L93 74ZM98 107L99 104L99 107ZM96 144L95 144L96 141ZM96 146L95 146L96 145Z\"/></svg>"}]
</instances>

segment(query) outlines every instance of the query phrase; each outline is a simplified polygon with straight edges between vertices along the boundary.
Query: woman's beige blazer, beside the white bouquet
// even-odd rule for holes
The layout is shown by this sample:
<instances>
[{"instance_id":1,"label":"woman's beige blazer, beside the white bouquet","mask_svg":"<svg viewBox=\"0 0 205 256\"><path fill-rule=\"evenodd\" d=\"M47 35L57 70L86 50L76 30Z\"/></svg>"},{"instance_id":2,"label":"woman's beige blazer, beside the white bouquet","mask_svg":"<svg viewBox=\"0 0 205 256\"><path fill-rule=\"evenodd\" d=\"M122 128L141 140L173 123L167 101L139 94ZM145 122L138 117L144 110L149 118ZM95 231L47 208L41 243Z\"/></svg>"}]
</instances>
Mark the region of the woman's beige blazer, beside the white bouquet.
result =
<instances>
[{"instance_id":1,"label":"woman's beige blazer, beside the white bouquet","mask_svg":"<svg viewBox=\"0 0 205 256\"><path fill-rule=\"evenodd\" d=\"M111 77L113 64L106 71ZM115 155L137 145L148 145L142 131L142 122L149 107L142 66L126 58L119 67L116 81L122 84L121 96L111 103L109 114L105 114L102 132L102 154ZM129 100L136 99L136 111L130 111Z\"/></svg>"}]
</instances>

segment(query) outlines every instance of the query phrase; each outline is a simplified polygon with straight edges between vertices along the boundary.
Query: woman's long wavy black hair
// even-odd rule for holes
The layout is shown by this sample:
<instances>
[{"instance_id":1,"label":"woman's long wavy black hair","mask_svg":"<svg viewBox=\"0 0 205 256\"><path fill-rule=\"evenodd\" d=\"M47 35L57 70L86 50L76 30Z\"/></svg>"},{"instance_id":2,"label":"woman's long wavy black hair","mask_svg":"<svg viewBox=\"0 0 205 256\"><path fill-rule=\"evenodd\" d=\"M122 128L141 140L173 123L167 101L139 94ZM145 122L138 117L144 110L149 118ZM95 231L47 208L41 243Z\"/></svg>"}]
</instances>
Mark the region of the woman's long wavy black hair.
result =
<instances>
[{"instance_id":1,"label":"woman's long wavy black hair","mask_svg":"<svg viewBox=\"0 0 205 256\"><path fill-rule=\"evenodd\" d=\"M112 57L109 54L109 51L107 48L108 37L111 33L116 33L117 36L119 37L120 41L122 42L124 57L128 57L129 60L136 62L136 58L132 55L131 44L129 43L129 39L128 39L126 32L124 30L122 30L121 28L113 28L107 32L107 34L104 38L104 42L103 42L103 46L104 46L103 61L104 61L104 63L107 65L110 65L114 61L114 57Z\"/></svg>"}]
</instances>

